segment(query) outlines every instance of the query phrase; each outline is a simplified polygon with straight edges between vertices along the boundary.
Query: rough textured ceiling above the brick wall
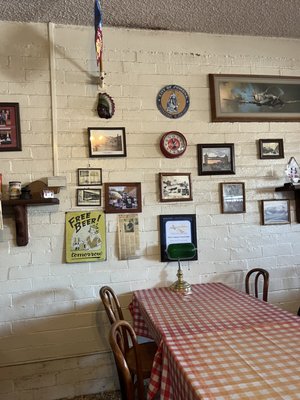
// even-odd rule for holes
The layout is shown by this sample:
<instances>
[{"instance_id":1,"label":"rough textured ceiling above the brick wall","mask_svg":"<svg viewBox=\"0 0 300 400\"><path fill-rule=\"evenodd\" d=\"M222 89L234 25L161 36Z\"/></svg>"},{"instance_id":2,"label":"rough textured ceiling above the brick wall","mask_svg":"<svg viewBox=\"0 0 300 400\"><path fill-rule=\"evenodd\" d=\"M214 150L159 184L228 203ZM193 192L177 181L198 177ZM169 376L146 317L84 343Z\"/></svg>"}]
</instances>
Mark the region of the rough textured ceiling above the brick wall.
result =
<instances>
[{"instance_id":1,"label":"rough textured ceiling above the brick wall","mask_svg":"<svg viewBox=\"0 0 300 400\"><path fill-rule=\"evenodd\" d=\"M300 38L300 0L101 0L103 26ZM0 20L93 25L94 0L0 0Z\"/></svg>"}]
</instances>

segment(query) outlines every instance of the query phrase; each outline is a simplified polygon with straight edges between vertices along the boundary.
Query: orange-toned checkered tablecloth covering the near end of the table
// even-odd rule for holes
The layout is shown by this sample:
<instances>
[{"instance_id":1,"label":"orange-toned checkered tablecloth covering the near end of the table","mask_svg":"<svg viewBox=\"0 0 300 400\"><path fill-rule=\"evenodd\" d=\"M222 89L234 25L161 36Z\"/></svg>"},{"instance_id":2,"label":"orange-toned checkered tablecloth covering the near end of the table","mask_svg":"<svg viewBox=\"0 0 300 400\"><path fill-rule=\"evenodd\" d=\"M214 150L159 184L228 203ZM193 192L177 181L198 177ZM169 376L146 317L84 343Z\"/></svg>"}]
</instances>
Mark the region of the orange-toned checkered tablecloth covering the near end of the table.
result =
<instances>
[{"instance_id":1,"label":"orange-toned checkered tablecloth covering the near end of the table","mask_svg":"<svg viewBox=\"0 0 300 400\"><path fill-rule=\"evenodd\" d=\"M166 338L165 398L300 399L299 343L300 319Z\"/></svg>"}]
</instances>

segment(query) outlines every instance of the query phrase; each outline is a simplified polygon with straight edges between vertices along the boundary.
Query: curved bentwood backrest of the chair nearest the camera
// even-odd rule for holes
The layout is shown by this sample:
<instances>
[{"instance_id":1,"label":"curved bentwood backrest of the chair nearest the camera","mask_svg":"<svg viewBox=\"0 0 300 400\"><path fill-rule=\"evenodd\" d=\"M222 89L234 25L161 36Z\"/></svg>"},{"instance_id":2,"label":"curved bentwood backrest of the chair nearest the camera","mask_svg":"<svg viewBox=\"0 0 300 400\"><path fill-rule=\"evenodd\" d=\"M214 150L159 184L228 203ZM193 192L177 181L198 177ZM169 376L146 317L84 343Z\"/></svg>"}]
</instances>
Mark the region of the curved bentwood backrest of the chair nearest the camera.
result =
<instances>
[{"instance_id":1,"label":"curved bentwood backrest of the chair nearest the camera","mask_svg":"<svg viewBox=\"0 0 300 400\"><path fill-rule=\"evenodd\" d=\"M135 377L132 377L131 371L129 370L126 362L128 342L132 344L132 350L135 357ZM136 390L138 394L137 398L139 400L144 399L145 392L142 372L142 359L139 353L139 345L136 339L136 334L131 325L124 320L118 320L114 322L109 333L109 343L114 353L124 400L134 400Z\"/></svg>"}]
</instances>

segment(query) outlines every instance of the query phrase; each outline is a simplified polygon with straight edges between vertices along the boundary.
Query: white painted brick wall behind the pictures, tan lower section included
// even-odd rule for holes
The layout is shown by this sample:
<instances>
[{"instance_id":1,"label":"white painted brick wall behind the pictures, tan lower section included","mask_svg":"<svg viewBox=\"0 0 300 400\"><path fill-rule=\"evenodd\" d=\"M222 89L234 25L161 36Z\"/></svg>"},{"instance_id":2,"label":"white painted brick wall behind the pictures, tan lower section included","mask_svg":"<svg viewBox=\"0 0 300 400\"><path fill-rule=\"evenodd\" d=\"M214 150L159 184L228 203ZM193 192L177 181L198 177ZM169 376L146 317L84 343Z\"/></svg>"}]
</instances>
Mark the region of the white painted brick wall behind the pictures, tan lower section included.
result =
<instances>
[{"instance_id":1,"label":"white painted brick wall behind the pictures, tan lower section included","mask_svg":"<svg viewBox=\"0 0 300 400\"><path fill-rule=\"evenodd\" d=\"M98 69L92 28L55 26L57 174L67 188L56 207L30 207L29 244L17 247L14 220L4 218L0 242L0 398L58 399L116 387L107 345L108 324L98 291L111 285L127 307L135 289L168 285L176 264L161 263L160 214L195 213L199 260L184 264L191 283L222 281L243 289L251 267L270 272L270 301L295 312L300 303L300 225L262 226L260 200L275 193L287 160L300 160L300 123L211 123L209 73L300 76L299 40L222 37L104 28L105 91L115 100L111 120L96 114ZM47 25L0 23L1 102L18 102L22 152L1 152L4 184L52 176L51 92ZM184 87L190 109L165 118L156 95L167 84ZM89 158L87 127L126 128L126 158ZM179 130L188 141L179 159L164 158L159 139ZM285 159L259 160L259 138L283 138ZM234 143L236 175L198 176L196 145ZM140 259L119 261L117 215L108 214L108 259L64 263L65 212L76 210L77 168L100 167L104 182L141 182ZM193 202L160 203L159 172L191 172ZM220 212L219 183L242 181L247 212ZM286 197L287 196L287 197ZM129 313L127 311L127 317ZM55 389L53 389L55 387Z\"/></svg>"}]
</instances>

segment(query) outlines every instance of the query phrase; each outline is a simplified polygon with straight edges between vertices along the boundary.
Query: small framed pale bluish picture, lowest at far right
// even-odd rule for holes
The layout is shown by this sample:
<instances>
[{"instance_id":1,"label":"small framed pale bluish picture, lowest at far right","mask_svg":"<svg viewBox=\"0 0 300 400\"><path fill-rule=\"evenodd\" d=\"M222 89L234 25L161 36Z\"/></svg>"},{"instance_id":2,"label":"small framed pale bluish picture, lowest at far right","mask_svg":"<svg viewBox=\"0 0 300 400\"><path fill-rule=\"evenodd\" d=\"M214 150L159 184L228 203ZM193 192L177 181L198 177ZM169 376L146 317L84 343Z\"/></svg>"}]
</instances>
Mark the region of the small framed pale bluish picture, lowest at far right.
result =
<instances>
[{"instance_id":1,"label":"small framed pale bluish picture, lowest at far right","mask_svg":"<svg viewBox=\"0 0 300 400\"><path fill-rule=\"evenodd\" d=\"M263 225L290 224L290 200L262 200Z\"/></svg>"}]
</instances>

